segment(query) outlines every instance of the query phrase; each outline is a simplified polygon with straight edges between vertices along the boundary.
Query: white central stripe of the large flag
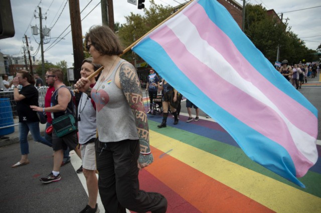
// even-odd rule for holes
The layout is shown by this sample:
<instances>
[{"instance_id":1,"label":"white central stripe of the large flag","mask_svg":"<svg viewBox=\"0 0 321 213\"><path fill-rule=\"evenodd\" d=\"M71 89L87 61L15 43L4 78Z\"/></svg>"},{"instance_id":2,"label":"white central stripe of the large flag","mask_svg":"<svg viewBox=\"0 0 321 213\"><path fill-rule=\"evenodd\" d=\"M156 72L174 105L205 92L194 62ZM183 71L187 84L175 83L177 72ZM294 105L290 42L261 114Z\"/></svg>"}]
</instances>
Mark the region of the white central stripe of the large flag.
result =
<instances>
[{"instance_id":1,"label":"white central stripe of the large flag","mask_svg":"<svg viewBox=\"0 0 321 213\"><path fill-rule=\"evenodd\" d=\"M244 78L242 78L237 70L235 70L229 63L227 63L220 52L218 52L216 49L210 46L206 40L200 37L196 27L193 23L190 22L187 16L185 16L183 13L180 13L175 17L175 19L175 22L171 21L167 23L167 25L174 31L181 42L185 44L188 51L191 52L195 57L197 57L202 63L210 67L213 72L216 72L224 80L230 82L240 90L246 92L248 95L251 95L252 97L263 102L267 106L271 107L277 114L279 114L279 116L286 123L296 147L307 159L315 163L315 161L317 160L317 155L313 155L314 157L311 158L311 152L315 150L315 147L306 146L305 143L302 143L302 141L315 141L315 138L294 126L262 91L255 87L251 82L246 81ZM193 40L198 40L198 42L190 42L191 37L193 37ZM205 52L206 54L204 54ZM226 70L229 70L229 72L227 72ZM202 83L196 82L197 79L191 80L196 85ZM204 92L207 92L207 95L211 96L211 91L212 90L209 88ZM230 113L233 114L233 112Z\"/></svg>"}]
</instances>

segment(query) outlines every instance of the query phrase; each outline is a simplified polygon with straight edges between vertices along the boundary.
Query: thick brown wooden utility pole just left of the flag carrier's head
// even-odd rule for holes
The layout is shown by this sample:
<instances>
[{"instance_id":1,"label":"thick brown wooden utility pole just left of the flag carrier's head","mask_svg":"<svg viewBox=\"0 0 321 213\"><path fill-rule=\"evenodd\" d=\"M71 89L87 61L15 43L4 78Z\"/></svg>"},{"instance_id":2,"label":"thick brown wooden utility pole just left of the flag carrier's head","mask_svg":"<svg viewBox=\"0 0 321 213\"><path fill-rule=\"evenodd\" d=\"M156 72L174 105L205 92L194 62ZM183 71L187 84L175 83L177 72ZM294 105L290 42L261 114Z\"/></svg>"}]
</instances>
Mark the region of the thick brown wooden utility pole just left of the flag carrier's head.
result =
<instances>
[{"instance_id":1,"label":"thick brown wooden utility pole just left of the flag carrier's head","mask_svg":"<svg viewBox=\"0 0 321 213\"><path fill-rule=\"evenodd\" d=\"M79 0L69 0L69 12L74 53L74 80L77 81L80 78L81 63L84 59Z\"/></svg>"}]
</instances>

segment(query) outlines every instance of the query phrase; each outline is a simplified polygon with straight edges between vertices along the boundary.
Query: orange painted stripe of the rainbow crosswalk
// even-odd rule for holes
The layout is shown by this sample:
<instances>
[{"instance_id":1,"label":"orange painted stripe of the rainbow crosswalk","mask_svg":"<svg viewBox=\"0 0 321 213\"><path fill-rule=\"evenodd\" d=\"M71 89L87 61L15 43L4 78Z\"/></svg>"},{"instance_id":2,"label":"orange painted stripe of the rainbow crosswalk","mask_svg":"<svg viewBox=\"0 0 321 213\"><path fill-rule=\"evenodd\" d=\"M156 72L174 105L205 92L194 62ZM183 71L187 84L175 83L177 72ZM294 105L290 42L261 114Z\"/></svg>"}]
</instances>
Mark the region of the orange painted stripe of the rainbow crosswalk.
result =
<instances>
[{"instance_id":1,"label":"orange painted stripe of the rainbow crosswalk","mask_svg":"<svg viewBox=\"0 0 321 213\"><path fill-rule=\"evenodd\" d=\"M200 211L273 212L268 207L163 151L152 146L150 148L154 162L145 169Z\"/></svg>"}]
</instances>

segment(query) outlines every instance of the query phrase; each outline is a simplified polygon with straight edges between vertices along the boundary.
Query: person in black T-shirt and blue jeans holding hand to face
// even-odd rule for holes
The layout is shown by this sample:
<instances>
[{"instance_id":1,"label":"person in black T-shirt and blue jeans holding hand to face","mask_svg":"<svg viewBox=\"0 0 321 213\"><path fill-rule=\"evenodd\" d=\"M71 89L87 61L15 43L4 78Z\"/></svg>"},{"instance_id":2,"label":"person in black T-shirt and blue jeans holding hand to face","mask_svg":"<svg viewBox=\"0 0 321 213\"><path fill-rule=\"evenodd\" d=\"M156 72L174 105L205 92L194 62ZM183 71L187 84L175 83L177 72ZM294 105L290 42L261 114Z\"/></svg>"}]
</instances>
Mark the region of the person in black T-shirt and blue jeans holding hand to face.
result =
<instances>
[{"instance_id":1,"label":"person in black T-shirt and blue jeans holding hand to face","mask_svg":"<svg viewBox=\"0 0 321 213\"><path fill-rule=\"evenodd\" d=\"M19 91L18 85L23 87ZM31 132L33 139L45 145L52 144L40 135L39 118L37 112L30 108L30 105L38 106L38 90L34 86L34 77L27 70L19 70L13 79L14 98L17 102L17 112L19 116L19 141L21 149L21 159L12 167L18 167L29 163L29 143L28 133Z\"/></svg>"}]
</instances>

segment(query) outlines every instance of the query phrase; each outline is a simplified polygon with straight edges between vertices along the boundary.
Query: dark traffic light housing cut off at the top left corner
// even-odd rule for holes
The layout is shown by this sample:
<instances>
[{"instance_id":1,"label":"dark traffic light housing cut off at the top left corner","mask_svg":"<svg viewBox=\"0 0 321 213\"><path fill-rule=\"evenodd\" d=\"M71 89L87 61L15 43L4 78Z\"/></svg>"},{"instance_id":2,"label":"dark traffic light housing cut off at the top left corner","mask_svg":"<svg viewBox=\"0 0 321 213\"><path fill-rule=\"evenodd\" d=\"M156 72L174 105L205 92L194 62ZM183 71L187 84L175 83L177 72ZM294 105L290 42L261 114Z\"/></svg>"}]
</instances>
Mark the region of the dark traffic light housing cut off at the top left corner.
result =
<instances>
[{"instance_id":1,"label":"dark traffic light housing cut off at the top left corner","mask_svg":"<svg viewBox=\"0 0 321 213\"><path fill-rule=\"evenodd\" d=\"M10 0L0 0L0 39L15 35Z\"/></svg>"}]
</instances>

